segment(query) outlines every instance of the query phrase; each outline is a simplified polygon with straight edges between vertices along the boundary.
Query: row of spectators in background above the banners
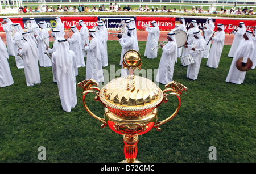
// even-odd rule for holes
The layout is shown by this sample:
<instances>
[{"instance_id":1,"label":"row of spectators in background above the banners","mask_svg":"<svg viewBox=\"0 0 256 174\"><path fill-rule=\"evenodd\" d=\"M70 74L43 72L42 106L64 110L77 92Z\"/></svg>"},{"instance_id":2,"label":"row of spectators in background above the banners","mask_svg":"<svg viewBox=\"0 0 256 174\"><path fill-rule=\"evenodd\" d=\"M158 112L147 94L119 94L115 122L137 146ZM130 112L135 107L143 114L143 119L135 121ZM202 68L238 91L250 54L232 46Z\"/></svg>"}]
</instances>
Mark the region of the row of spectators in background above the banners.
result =
<instances>
[{"instance_id":1,"label":"row of spectators in background above the banners","mask_svg":"<svg viewBox=\"0 0 256 174\"><path fill-rule=\"evenodd\" d=\"M174 9L167 9L166 6L161 7L160 9L158 7L152 6L151 8L149 8L147 5L141 5L138 9L133 9L130 7L130 5L126 5L125 7L123 7L121 9L121 7L119 7L117 5L117 3L115 3L115 5L112 5L112 3L110 3L109 6L105 6L104 4L102 4L100 7L96 7L95 5L93 5L92 7L89 6L84 6L84 5L79 5L78 7L76 6L63 6L61 7L60 5L57 6L57 8L55 9L55 7L48 7L47 5L43 5L42 8L40 8L39 6L36 7L34 10L31 7L27 7L24 6L20 7L20 12L177 12L177 13L199 13L199 14L224 14L224 15L256 15L256 12L254 12L253 7L247 8L245 7L244 9L242 9L241 7L236 8L230 8L230 9L224 9L224 8L215 8L213 6L210 6L208 10L203 10L203 7L195 7L192 6L192 9L188 10L186 7L184 8L184 10L179 9L177 10L176 8Z\"/></svg>"}]
</instances>

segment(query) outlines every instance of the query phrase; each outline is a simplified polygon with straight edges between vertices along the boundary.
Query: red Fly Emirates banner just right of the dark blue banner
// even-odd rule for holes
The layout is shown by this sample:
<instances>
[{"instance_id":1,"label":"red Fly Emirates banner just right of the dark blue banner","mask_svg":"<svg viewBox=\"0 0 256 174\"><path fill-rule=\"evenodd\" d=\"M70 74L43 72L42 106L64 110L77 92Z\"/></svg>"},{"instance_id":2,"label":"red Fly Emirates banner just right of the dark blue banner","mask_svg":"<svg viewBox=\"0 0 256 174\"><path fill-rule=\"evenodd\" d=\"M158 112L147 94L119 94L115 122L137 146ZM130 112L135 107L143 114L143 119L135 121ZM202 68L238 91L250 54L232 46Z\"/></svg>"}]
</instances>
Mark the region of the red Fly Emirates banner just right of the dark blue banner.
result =
<instances>
[{"instance_id":1,"label":"red Fly Emirates banner just right of the dark blue banner","mask_svg":"<svg viewBox=\"0 0 256 174\"><path fill-rule=\"evenodd\" d=\"M175 28L175 18L174 17L136 17L136 28L144 29L142 26L144 24L150 24L153 20L156 21L160 31L168 30Z\"/></svg>"}]
</instances>

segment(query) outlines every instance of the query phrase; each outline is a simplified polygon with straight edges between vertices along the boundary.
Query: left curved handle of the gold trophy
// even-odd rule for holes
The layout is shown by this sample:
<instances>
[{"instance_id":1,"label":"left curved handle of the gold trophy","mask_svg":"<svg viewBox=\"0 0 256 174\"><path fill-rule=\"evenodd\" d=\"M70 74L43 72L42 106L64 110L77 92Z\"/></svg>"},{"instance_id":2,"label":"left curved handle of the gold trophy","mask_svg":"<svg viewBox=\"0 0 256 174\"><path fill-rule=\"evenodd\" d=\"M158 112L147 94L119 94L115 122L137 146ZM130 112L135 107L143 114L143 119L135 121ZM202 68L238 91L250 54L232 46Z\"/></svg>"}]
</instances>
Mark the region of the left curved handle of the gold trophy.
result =
<instances>
[{"instance_id":1,"label":"left curved handle of the gold trophy","mask_svg":"<svg viewBox=\"0 0 256 174\"><path fill-rule=\"evenodd\" d=\"M81 86L81 87L82 87L82 90L83 90L82 101L83 101L83 103L84 103L84 107L85 107L86 111L87 111L93 118L95 118L96 120L102 122L103 124L101 125L101 128L104 128L104 127L107 125L105 119L96 116L94 113L92 113L92 111L90 111L90 109L89 109L89 108L87 107L87 105L86 105L85 97L86 97L86 95L89 94L89 93L93 93L94 95L96 95L96 96L94 97L94 100L95 100L95 101L99 101L99 100L100 100L99 97L98 97L98 92L100 92L101 90L100 90L100 88L98 88L98 87L92 87L93 85L94 85L94 86L98 86L98 83L97 83L95 80L93 80L93 79L84 80L84 81L82 81L82 82L80 82L80 83L77 84L77 86ZM94 91L94 90L96 90L97 92Z\"/></svg>"}]
</instances>

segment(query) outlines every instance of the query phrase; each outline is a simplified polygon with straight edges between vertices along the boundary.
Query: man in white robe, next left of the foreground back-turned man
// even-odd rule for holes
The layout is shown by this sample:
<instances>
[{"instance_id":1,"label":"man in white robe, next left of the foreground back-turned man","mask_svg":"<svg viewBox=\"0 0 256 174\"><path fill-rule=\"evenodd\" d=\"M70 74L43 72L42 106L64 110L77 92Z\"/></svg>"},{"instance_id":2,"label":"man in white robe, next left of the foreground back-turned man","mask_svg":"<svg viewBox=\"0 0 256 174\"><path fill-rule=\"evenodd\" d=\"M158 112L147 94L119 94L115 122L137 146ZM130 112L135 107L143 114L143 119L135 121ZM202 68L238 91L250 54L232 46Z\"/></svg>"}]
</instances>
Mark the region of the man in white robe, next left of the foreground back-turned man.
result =
<instances>
[{"instance_id":1,"label":"man in white robe, next left of the foreground back-turned man","mask_svg":"<svg viewBox=\"0 0 256 174\"><path fill-rule=\"evenodd\" d=\"M24 72L26 77L27 86L33 86L34 84L41 83L40 73L39 73L39 53L36 49L36 44L32 40L30 33L22 33L23 39L26 41L22 49L20 49L20 54L22 54L24 61Z\"/></svg>"}]
</instances>

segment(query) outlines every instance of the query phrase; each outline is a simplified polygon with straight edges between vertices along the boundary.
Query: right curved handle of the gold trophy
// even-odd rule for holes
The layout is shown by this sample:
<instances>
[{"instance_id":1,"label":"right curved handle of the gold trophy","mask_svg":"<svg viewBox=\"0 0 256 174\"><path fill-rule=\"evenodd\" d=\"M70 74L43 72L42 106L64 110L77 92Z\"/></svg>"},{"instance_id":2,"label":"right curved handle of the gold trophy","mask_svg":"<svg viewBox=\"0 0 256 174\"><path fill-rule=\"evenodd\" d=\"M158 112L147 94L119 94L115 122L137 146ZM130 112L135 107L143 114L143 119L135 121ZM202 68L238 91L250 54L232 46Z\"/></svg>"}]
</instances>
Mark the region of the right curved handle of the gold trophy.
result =
<instances>
[{"instance_id":1,"label":"right curved handle of the gold trophy","mask_svg":"<svg viewBox=\"0 0 256 174\"><path fill-rule=\"evenodd\" d=\"M177 112L179 112L180 104L181 104L181 93L182 93L183 90L186 90L186 91L188 90L188 88L185 87L183 84L176 83L174 81L166 84L165 87L167 89L163 90L163 94L164 94L163 102L166 103L168 101L168 96L174 95L179 100L179 103L177 105L177 108L176 108L175 112L172 113L170 117L166 118L165 120L158 121L158 122L155 123L154 128L156 128L156 130L158 130L158 131L161 130L161 128L159 128L160 125L163 125L166 122L172 120L172 118L174 118L176 116ZM168 88L168 87L171 87L171 88ZM166 94L166 92L170 92L170 93Z\"/></svg>"}]
</instances>

